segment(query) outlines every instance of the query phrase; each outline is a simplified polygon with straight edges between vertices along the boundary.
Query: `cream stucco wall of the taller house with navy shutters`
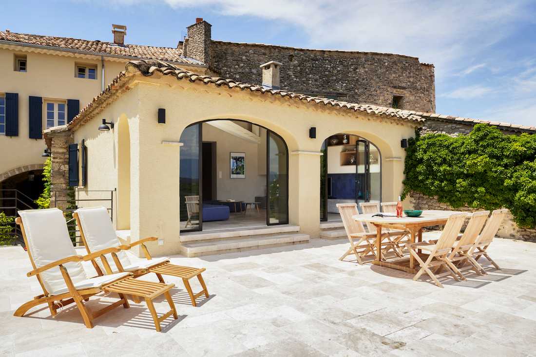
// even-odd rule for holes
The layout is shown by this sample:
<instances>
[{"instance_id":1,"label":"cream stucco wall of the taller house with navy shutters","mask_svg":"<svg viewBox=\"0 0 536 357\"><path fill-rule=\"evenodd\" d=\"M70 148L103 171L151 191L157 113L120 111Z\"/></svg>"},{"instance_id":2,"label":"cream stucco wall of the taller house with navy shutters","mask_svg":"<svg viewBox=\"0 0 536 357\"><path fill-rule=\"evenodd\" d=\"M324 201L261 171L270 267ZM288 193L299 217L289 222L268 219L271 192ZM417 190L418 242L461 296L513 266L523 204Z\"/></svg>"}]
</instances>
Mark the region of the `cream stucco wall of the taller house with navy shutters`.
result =
<instances>
[{"instance_id":1,"label":"cream stucco wall of the taller house with navy shutters","mask_svg":"<svg viewBox=\"0 0 536 357\"><path fill-rule=\"evenodd\" d=\"M27 72L14 71L14 56L25 55ZM105 86L125 69L129 59L103 57ZM93 64L97 78L75 77L76 64ZM188 68L203 73L203 68ZM17 167L42 164L44 140L28 137L28 96L66 101L78 99L80 109L93 100L102 90L102 65L100 55L74 54L65 51L35 49L32 47L0 44L0 94L19 94L19 136L0 135L0 175ZM46 115L43 104L43 130Z\"/></svg>"}]
</instances>

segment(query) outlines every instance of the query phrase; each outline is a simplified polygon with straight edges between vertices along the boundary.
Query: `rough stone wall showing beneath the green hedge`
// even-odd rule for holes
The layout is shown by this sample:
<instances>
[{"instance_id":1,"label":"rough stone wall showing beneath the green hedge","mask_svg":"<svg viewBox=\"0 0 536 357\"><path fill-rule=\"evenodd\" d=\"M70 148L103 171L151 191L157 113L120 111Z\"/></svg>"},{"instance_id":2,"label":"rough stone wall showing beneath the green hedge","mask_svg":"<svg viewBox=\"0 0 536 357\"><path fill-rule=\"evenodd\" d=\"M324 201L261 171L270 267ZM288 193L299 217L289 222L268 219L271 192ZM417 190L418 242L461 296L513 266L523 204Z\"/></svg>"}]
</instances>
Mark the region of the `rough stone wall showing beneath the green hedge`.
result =
<instances>
[{"instance_id":1,"label":"rough stone wall showing beneath the green hedge","mask_svg":"<svg viewBox=\"0 0 536 357\"><path fill-rule=\"evenodd\" d=\"M440 203L437 197L429 197L418 192L411 192L410 202L415 210L453 210L464 212L475 212L471 207L453 208L447 203ZM501 228L497 232L497 236L501 238L517 239L522 241L536 242L536 227L520 228L517 226L513 217L508 213L507 218L503 221Z\"/></svg>"}]
</instances>

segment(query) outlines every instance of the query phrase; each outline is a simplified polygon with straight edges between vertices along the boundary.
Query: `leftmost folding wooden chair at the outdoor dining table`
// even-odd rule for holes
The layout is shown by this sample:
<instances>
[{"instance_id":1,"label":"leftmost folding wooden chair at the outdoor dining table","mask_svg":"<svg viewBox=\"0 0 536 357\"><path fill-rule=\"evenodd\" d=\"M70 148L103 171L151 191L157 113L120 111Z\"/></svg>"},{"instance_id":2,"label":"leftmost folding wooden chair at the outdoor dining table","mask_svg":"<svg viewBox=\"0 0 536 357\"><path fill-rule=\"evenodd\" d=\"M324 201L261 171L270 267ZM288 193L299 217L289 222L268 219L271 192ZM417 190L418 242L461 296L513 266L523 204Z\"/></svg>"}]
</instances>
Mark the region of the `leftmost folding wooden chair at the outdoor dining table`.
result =
<instances>
[{"instance_id":1,"label":"leftmost folding wooden chair at the outdoor dining table","mask_svg":"<svg viewBox=\"0 0 536 357\"><path fill-rule=\"evenodd\" d=\"M376 233L367 233L361 222L352 219L353 215L359 214L357 204L338 203L337 208L350 242L350 248L339 258L339 261L342 261L350 254L355 254L358 263L362 265L362 257L367 255L373 257Z\"/></svg>"}]
</instances>

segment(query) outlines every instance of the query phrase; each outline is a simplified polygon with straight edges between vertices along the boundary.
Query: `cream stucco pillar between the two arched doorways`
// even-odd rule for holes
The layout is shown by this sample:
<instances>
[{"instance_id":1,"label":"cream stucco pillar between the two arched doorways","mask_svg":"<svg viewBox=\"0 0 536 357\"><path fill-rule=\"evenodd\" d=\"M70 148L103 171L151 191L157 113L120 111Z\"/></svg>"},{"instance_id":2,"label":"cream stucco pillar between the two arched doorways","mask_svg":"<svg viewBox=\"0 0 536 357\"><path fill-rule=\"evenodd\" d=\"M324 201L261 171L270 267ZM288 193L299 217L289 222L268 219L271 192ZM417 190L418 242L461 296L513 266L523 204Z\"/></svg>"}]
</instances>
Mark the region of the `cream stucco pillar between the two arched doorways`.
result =
<instances>
[{"instance_id":1,"label":"cream stucco pillar between the two arched doorways","mask_svg":"<svg viewBox=\"0 0 536 357\"><path fill-rule=\"evenodd\" d=\"M321 152L291 153L291 224L311 238L320 236L320 157Z\"/></svg>"}]
</instances>

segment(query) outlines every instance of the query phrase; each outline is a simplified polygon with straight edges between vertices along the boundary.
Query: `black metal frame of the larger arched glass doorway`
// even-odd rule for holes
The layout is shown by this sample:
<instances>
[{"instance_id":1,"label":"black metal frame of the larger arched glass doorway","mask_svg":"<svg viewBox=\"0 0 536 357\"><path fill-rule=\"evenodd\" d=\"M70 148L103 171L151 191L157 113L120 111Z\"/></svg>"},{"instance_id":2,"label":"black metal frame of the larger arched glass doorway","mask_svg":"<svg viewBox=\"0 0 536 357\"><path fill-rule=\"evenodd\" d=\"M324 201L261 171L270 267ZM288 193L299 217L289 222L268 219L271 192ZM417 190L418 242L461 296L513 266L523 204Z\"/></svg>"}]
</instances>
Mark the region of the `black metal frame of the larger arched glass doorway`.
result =
<instances>
[{"instance_id":1,"label":"black metal frame of the larger arched glass doorway","mask_svg":"<svg viewBox=\"0 0 536 357\"><path fill-rule=\"evenodd\" d=\"M289 202L289 197L288 197L288 192L289 192L289 171L290 171L290 167L289 167L289 158L288 158L288 145L287 145L287 142L285 141L285 139L280 136L277 132L275 131L272 131L266 127L263 127L263 125L259 125L259 124L256 124L256 123L252 123L252 122L249 122L247 120L241 120L241 119L233 119L233 118L218 118L218 119L209 119L209 120L204 120L204 121L200 121L200 122L196 122L196 123L192 123L190 125L188 125L186 128L189 128L189 127L192 127L193 125L199 125L199 134L198 134L198 145L199 145L199 151L198 151L198 160L199 160L199 224L198 224L198 228L197 229L185 229L185 230L180 230L181 233L187 233L187 232L202 232L203 231L203 123L206 123L206 122L211 122L211 121L216 121L216 120L230 120L230 121L235 121L235 122L244 122L244 123L248 123L248 124L253 124L253 125L257 125L257 127L260 127L260 128L263 128L266 130L266 194L265 194L265 199L266 199L266 225L267 226L278 226L278 225L284 225L284 224L288 224L289 222L289 205L288 205L288 202ZM269 214L269 179L270 179L270 133L273 133L274 135L276 135L277 137L279 137L282 141L283 144L285 144L285 150L286 150L286 165L287 165L287 184L286 184L286 196L287 196L287 202L286 202L286 205L287 205L287 219L284 221L284 222L278 222L278 223L270 223L270 214ZM182 134L181 134L182 135ZM180 199L180 197L179 197Z\"/></svg>"}]
</instances>

